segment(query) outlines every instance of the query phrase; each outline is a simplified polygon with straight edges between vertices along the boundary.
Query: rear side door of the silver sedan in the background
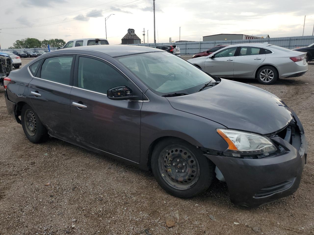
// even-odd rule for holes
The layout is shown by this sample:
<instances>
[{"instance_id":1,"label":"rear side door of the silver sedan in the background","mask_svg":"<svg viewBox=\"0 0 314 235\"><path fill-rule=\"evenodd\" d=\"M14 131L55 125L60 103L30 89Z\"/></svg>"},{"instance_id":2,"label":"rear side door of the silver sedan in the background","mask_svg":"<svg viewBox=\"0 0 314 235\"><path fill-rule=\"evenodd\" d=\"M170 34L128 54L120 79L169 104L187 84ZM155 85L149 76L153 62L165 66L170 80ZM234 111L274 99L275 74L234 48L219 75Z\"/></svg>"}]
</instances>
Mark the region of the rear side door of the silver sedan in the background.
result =
<instances>
[{"instance_id":1,"label":"rear side door of the silver sedan in the background","mask_svg":"<svg viewBox=\"0 0 314 235\"><path fill-rule=\"evenodd\" d=\"M265 50L260 47L241 46L234 60L235 77L251 77L265 60Z\"/></svg>"}]
</instances>

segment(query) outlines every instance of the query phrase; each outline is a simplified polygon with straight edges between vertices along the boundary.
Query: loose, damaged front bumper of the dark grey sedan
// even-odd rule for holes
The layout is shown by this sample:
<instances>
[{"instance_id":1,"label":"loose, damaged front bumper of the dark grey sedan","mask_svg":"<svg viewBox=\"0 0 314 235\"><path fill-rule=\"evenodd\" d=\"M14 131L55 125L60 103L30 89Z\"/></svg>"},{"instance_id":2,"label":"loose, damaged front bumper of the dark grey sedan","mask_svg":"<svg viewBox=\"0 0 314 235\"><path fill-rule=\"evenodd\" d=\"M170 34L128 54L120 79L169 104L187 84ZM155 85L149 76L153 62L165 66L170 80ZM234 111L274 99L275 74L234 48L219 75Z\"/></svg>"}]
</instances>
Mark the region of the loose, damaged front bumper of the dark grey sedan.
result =
<instances>
[{"instance_id":1,"label":"loose, damaged front bumper of the dark grey sedan","mask_svg":"<svg viewBox=\"0 0 314 235\"><path fill-rule=\"evenodd\" d=\"M300 120L294 114L283 135L275 134L270 138L282 150L272 157L243 159L204 154L221 171L228 185L230 200L236 205L263 206L298 189L307 157L307 143Z\"/></svg>"}]
</instances>

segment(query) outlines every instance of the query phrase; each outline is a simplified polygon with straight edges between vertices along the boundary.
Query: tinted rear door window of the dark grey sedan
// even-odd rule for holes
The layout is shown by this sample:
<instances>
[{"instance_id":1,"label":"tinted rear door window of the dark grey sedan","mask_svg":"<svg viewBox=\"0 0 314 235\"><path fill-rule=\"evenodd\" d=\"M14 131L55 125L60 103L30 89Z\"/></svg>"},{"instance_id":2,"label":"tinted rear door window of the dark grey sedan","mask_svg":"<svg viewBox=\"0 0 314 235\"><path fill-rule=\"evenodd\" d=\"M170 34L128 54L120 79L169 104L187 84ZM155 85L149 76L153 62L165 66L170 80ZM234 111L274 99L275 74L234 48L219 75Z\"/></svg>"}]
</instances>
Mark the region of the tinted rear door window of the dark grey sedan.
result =
<instances>
[{"instance_id":1,"label":"tinted rear door window of the dark grey sedan","mask_svg":"<svg viewBox=\"0 0 314 235\"><path fill-rule=\"evenodd\" d=\"M41 66L41 77L49 81L70 85L73 56L47 58Z\"/></svg>"}]
</instances>

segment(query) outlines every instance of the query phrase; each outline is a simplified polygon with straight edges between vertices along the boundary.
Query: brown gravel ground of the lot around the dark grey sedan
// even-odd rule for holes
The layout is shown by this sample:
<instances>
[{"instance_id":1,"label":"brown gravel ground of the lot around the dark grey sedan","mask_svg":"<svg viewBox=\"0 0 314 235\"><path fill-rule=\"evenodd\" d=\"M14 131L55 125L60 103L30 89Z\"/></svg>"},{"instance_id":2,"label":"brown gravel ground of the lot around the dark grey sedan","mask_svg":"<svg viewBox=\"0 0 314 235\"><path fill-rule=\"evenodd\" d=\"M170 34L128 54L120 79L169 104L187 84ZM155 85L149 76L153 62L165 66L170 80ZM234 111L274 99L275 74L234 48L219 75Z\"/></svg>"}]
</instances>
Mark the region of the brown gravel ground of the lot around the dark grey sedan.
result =
<instances>
[{"instance_id":1,"label":"brown gravel ground of the lot around the dark grey sedan","mask_svg":"<svg viewBox=\"0 0 314 235\"><path fill-rule=\"evenodd\" d=\"M283 99L309 142L300 188L259 209L234 206L225 183L180 199L163 191L150 172L55 138L32 144L7 114L1 87L0 234L314 234L313 75L311 63L304 76L275 85L236 80ZM166 220L175 226L167 228Z\"/></svg>"}]
</instances>

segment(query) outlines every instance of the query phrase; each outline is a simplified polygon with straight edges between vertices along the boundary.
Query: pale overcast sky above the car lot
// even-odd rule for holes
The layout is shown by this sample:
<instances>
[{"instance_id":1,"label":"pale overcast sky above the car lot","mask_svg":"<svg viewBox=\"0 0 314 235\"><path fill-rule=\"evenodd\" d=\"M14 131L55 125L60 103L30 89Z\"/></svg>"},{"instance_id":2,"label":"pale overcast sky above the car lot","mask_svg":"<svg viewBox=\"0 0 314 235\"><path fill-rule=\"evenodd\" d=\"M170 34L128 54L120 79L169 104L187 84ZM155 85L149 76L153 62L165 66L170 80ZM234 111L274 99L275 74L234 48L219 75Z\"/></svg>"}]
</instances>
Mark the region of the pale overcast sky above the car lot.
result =
<instances>
[{"instance_id":1,"label":"pale overcast sky above the car lot","mask_svg":"<svg viewBox=\"0 0 314 235\"><path fill-rule=\"evenodd\" d=\"M107 38L120 44L128 28L145 42L154 40L153 0L10 0L1 4L1 48L17 39ZM139 3L139 4L137 4ZM199 41L211 34L269 34L270 37L312 35L313 0L156 0L156 41ZM137 4L137 5L135 5ZM132 6L130 6L132 5ZM121 9L122 8L122 9ZM86 17L86 15L93 17ZM6 17L8 16L8 17ZM75 20L77 19L77 20ZM48 24L41 27L6 29ZM60 23L60 24L57 24Z\"/></svg>"}]
</instances>

